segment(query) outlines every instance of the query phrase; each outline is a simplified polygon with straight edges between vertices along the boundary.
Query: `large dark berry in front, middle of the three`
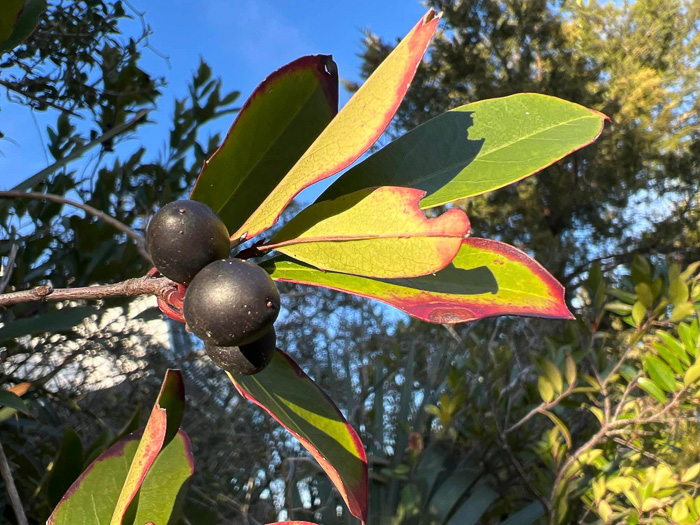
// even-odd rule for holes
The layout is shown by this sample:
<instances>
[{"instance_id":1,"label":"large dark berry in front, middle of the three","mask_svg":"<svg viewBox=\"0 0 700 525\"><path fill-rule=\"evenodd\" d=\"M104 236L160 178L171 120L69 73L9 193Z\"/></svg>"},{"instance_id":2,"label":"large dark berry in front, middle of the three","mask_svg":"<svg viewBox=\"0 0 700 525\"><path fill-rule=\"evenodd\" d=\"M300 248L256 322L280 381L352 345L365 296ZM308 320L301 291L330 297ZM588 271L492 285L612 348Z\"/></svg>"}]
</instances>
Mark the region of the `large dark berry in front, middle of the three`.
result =
<instances>
[{"instance_id":1,"label":"large dark berry in front, middle of the three","mask_svg":"<svg viewBox=\"0 0 700 525\"><path fill-rule=\"evenodd\" d=\"M223 259L205 266L187 288L189 329L215 346L252 343L272 328L280 311L275 283L257 264Z\"/></svg>"}]
</instances>

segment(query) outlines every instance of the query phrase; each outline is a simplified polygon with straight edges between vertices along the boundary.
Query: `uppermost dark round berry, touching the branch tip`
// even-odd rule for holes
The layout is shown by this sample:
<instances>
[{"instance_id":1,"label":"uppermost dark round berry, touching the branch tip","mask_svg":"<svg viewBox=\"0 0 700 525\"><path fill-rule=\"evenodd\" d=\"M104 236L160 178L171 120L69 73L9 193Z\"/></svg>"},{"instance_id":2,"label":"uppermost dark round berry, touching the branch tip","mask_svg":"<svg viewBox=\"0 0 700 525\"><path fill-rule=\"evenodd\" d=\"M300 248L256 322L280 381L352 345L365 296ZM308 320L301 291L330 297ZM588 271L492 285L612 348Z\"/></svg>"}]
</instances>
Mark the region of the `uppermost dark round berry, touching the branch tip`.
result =
<instances>
[{"instance_id":1,"label":"uppermost dark round berry, touching the branch tip","mask_svg":"<svg viewBox=\"0 0 700 525\"><path fill-rule=\"evenodd\" d=\"M230 251L228 230L219 216L206 204L190 200L158 210L148 225L146 244L156 269L182 284Z\"/></svg>"}]
</instances>

